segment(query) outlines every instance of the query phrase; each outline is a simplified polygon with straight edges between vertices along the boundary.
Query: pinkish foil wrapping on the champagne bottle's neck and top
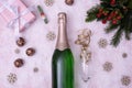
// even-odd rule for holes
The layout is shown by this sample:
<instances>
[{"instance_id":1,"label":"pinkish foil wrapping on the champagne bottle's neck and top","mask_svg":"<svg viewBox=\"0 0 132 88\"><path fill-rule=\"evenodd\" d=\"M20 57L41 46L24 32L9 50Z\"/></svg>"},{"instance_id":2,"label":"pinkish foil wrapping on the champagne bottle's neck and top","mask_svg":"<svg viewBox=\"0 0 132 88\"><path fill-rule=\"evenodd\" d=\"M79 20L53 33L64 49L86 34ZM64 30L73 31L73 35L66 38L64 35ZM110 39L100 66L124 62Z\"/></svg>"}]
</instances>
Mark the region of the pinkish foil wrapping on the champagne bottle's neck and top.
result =
<instances>
[{"instance_id":1,"label":"pinkish foil wrapping on the champagne bottle's neck and top","mask_svg":"<svg viewBox=\"0 0 132 88\"><path fill-rule=\"evenodd\" d=\"M69 47L66 33L66 13L58 13L58 36L56 48L59 51L64 51Z\"/></svg>"}]
</instances>

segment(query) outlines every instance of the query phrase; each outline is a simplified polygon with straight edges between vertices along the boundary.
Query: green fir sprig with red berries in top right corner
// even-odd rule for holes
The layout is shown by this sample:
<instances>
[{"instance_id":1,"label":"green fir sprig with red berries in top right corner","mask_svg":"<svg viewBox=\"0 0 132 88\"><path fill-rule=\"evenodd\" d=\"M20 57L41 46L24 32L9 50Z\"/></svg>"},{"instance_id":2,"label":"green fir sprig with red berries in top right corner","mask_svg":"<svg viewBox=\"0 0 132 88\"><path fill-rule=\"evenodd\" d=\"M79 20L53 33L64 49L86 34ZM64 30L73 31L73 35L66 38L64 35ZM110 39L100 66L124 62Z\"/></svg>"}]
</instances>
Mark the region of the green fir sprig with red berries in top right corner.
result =
<instances>
[{"instance_id":1,"label":"green fir sprig with red berries in top right corner","mask_svg":"<svg viewBox=\"0 0 132 88\"><path fill-rule=\"evenodd\" d=\"M106 33L117 31L111 40L113 46L118 46L123 33L127 40L131 40L132 0L100 0L100 4L87 12L86 22L94 20L102 21L103 24L109 21Z\"/></svg>"}]
</instances>

